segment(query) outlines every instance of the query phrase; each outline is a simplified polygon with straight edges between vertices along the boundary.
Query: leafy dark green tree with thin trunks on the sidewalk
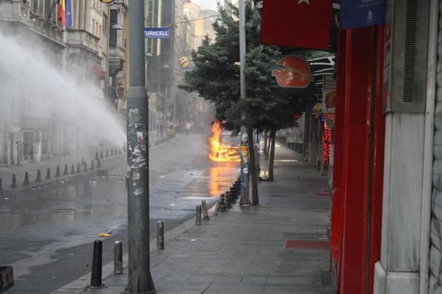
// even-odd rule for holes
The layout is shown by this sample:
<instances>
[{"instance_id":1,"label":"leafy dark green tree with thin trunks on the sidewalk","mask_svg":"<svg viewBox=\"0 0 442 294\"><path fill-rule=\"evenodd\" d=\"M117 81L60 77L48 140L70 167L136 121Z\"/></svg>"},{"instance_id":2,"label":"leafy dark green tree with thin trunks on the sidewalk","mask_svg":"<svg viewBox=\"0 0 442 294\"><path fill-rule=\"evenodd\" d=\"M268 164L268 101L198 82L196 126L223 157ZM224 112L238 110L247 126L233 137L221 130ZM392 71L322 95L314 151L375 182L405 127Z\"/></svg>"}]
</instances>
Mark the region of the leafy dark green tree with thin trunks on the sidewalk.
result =
<instances>
[{"instance_id":1,"label":"leafy dark green tree with thin trunks on the sidewalk","mask_svg":"<svg viewBox=\"0 0 442 294\"><path fill-rule=\"evenodd\" d=\"M218 8L220 18L213 23L215 39L205 37L198 50L192 52L195 68L184 75L185 84L180 88L198 92L201 97L213 103L215 119L225 121L224 128L238 134L241 124L247 127L249 145L253 148L253 129L270 131L271 135L280 128L293 124L294 115L300 113L298 97L289 95L278 86L271 70L278 67L282 58L280 48L259 43L260 14L253 8L251 0L246 1L246 84L247 95L240 100L240 52L238 8L231 6L233 15L222 7ZM243 110L247 119L241 121ZM274 145L274 141L273 141ZM252 178L252 201L258 204L257 175L254 153L250 153ZM274 155L274 149L273 149ZM269 163L269 177L273 180L273 158Z\"/></svg>"}]
</instances>

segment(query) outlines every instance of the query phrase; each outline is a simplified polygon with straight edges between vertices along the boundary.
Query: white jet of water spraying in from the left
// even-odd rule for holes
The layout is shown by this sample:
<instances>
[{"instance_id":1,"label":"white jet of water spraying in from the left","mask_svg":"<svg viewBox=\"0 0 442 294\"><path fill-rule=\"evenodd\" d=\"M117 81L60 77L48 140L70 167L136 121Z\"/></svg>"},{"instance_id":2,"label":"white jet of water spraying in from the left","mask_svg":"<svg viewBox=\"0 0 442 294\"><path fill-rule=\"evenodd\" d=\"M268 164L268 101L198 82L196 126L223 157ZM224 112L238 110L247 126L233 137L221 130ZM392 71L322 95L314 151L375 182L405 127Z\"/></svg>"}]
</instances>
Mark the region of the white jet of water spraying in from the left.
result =
<instances>
[{"instance_id":1,"label":"white jet of water spraying in from the left","mask_svg":"<svg viewBox=\"0 0 442 294\"><path fill-rule=\"evenodd\" d=\"M126 140L123 123L108 102L95 97L96 91L77 84L75 77L52 66L41 52L0 35L0 130L17 124L21 113L59 117L75 126L81 147L122 146Z\"/></svg>"}]
</instances>

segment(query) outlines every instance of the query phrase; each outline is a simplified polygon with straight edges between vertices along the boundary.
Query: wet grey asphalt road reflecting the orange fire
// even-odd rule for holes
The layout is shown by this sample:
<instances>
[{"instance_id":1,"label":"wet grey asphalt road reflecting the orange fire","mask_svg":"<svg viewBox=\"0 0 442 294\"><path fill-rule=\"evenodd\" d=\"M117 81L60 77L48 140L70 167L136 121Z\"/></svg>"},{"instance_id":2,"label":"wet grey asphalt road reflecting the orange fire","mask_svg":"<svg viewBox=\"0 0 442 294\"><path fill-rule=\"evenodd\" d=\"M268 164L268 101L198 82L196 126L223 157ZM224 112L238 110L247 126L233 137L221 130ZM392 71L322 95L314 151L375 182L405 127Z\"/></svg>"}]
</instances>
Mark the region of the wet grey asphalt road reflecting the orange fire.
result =
<instances>
[{"instance_id":1,"label":"wet grey asphalt road reflecting the orange fire","mask_svg":"<svg viewBox=\"0 0 442 294\"><path fill-rule=\"evenodd\" d=\"M169 231L193 217L238 176L238 164L207 159L206 138L177 137L150 153L151 239L157 220ZM127 248L126 156L104 163L110 176L81 175L0 197L0 264L12 265L8 294L50 293L90 271L93 242L102 239L104 264L113 242ZM5 199L8 198L8 199ZM110 238L99 233L112 231Z\"/></svg>"}]
</instances>

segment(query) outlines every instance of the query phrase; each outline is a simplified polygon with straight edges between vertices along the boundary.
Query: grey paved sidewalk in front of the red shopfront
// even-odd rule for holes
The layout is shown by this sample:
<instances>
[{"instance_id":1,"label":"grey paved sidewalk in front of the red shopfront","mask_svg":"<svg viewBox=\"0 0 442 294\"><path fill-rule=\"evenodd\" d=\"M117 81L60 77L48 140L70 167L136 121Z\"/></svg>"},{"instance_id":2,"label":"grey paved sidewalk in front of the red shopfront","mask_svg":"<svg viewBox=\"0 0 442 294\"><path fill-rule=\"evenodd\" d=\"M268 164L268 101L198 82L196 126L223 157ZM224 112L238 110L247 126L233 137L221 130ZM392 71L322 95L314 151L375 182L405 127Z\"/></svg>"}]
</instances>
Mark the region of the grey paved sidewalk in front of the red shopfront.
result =
<instances>
[{"instance_id":1,"label":"grey paved sidewalk in front of the red shopfront","mask_svg":"<svg viewBox=\"0 0 442 294\"><path fill-rule=\"evenodd\" d=\"M157 293L334 293L327 181L301 155L279 145L276 151L276 181L260 182L260 206L236 204L202 226L191 219L166 233L163 251L151 242ZM104 277L112 270L105 265ZM106 288L88 293L121 293L124 270L105 278ZM82 293L89 282L86 275L55 293Z\"/></svg>"}]
</instances>

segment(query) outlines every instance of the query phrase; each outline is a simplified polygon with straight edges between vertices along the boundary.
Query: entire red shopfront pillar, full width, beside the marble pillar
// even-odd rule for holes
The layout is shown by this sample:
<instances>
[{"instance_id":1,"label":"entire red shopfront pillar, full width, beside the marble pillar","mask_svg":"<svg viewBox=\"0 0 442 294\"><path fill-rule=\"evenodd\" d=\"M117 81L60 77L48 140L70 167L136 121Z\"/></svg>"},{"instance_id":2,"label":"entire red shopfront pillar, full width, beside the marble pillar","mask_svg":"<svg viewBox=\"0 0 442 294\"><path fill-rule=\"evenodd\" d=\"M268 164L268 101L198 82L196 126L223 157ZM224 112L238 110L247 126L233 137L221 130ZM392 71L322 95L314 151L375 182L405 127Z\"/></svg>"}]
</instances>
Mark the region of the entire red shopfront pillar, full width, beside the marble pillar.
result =
<instances>
[{"instance_id":1,"label":"entire red shopfront pillar, full width, beside the marble pillar","mask_svg":"<svg viewBox=\"0 0 442 294\"><path fill-rule=\"evenodd\" d=\"M380 253L382 52L382 27L340 32L330 243L338 293L371 293Z\"/></svg>"}]
</instances>

